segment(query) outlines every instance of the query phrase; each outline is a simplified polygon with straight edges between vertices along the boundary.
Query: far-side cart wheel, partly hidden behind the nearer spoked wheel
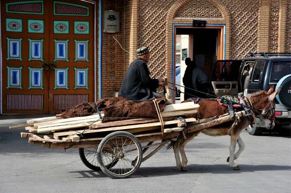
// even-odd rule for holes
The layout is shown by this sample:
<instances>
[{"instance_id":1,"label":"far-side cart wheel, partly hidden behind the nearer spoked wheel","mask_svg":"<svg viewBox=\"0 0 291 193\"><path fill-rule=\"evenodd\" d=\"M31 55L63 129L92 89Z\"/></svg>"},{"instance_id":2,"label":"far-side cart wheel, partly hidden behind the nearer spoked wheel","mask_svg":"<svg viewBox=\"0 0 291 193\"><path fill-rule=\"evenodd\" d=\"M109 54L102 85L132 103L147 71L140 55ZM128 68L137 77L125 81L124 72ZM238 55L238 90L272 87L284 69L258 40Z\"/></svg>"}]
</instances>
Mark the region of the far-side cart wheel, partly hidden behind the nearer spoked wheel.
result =
<instances>
[{"instance_id":1,"label":"far-side cart wheel, partly hidden behind the nearer spoked wheel","mask_svg":"<svg viewBox=\"0 0 291 193\"><path fill-rule=\"evenodd\" d=\"M99 163L97 162L97 148L79 148L81 161L90 169L100 171ZM106 167L114 166L118 160L108 164Z\"/></svg>"}]
</instances>

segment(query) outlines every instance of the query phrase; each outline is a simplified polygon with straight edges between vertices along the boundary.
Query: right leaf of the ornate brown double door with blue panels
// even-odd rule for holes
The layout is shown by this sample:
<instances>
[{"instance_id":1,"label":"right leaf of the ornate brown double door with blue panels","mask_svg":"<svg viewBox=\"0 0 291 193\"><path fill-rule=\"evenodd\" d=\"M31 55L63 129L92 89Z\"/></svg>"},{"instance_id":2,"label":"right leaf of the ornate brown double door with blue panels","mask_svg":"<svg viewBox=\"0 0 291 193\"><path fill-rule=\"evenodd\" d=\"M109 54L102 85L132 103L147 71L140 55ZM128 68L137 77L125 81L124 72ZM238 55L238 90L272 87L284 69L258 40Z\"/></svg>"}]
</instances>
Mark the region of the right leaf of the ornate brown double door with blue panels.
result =
<instances>
[{"instance_id":1,"label":"right leaf of the ornate brown double door with blue panels","mask_svg":"<svg viewBox=\"0 0 291 193\"><path fill-rule=\"evenodd\" d=\"M54 1L49 36L49 113L93 101L94 5Z\"/></svg>"}]
</instances>

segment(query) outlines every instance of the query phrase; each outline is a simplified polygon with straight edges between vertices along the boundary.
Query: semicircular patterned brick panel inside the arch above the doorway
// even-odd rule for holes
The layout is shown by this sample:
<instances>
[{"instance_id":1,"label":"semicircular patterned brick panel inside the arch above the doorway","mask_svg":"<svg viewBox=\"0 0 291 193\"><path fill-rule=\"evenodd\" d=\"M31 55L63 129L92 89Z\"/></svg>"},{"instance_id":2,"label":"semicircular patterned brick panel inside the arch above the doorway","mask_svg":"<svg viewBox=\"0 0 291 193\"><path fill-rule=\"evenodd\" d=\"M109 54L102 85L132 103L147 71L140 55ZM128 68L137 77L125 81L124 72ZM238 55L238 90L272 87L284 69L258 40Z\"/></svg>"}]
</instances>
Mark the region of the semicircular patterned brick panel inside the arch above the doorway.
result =
<instances>
[{"instance_id":1,"label":"semicircular patterned brick panel inside the arch above the doorway","mask_svg":"<svg viewBox=\"0 0 291 193\"><path fill-rule=\"evenodd\" d=\"M178 10L175 17L223 18L223 15L206 0L191 0Z\"/></svg>"}]
</instances>

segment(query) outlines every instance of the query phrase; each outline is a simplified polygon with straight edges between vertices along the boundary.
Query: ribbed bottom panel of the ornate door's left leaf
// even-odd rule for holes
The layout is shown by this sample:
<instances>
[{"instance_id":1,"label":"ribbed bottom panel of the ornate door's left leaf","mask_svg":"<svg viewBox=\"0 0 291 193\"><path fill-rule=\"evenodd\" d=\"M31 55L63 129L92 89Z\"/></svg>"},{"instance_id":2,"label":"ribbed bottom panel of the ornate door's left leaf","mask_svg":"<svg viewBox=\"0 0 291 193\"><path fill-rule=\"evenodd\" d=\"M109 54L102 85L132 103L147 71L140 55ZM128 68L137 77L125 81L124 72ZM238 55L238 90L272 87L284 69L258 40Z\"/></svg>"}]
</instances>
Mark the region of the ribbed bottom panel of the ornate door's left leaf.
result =
<instances>
[{"instance_id":1,"label":"ribbed bottom panel of the ornate door's left leaf","mask_svg":"<svg viewBox=\"0 0 291 193\"><path fill-rule=\"evenodd\" d=\"M42 110L44 95L7 94L7 110Z\"/></svg>"}]
</instances>

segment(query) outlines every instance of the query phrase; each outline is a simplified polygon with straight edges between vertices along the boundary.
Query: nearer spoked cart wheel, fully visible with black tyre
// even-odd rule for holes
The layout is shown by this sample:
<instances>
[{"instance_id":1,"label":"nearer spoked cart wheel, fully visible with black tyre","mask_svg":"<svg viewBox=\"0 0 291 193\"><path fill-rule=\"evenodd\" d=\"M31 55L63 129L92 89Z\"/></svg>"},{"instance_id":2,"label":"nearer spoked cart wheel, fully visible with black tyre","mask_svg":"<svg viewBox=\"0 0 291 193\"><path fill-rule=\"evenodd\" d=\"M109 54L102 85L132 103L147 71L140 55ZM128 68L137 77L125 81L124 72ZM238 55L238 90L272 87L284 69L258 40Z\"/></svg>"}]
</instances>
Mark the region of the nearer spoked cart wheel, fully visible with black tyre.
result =
<instances>
[{"instance_id":1,"label":"nearer spoked cart wheel, fully visible with black tyre","mask_svg":"<svg viewBox=\"0 0 291 193\"><path fill-rule=\"evenodd\" d=\"M97 159L101 170L110 178L128 178L141 165L142 146L138 139L128 132L118 131L107 135L97 149ZM109 167L110 163L118 164Z\"/></svg>"}]
</instances>

